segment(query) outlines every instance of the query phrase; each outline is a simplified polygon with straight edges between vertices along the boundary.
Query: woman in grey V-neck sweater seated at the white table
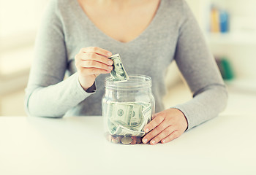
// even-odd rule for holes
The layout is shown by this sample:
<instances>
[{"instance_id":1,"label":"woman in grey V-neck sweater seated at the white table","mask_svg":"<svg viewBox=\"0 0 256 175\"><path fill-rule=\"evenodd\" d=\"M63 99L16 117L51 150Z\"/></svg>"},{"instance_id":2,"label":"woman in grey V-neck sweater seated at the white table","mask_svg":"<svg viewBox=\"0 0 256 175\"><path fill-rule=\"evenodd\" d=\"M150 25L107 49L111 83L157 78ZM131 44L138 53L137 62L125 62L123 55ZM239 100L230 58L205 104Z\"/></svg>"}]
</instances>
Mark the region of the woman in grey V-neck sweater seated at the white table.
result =
<instances>
[{"instance_id":1,"label":"woman in grey V-neck sweater seated at the white table","mask_svg":"<svg viewBox=\"0 0 256 175\"><path fill-rule=\"evenodd\" d=\"M145 144L176 139L225 108L225 85L184 0L53 0L37 36L27 112L101 115L113 53L120 53L130 74L152 78L158 113L145 127ZM172 61L194 98L164 110L164 77Z\"/></svg>"}]
</instances>

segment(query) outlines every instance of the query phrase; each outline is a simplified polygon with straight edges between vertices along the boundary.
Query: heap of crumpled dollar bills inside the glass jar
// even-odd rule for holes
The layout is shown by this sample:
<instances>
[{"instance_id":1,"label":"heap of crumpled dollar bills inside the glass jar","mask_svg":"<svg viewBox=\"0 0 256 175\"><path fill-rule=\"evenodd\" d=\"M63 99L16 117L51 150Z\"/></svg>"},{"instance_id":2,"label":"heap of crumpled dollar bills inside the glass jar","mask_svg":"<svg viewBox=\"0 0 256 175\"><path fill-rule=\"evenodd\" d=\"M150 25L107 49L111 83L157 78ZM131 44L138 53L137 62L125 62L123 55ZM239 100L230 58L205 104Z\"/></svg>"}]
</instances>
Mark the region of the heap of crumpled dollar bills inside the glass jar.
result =
<instances>
[{"instance_id":1,"label":"heap of crumpled dollar bills inside the glass jar","mask_svg":"<svg viewBox=\"0 0 256 175\"><path fill-rule=\"evenodd\" d=\"M118 136L144 136L151 121L151 104L146 102L110 102L105 104L108 131Z\"/></svg>"}]
</instances>

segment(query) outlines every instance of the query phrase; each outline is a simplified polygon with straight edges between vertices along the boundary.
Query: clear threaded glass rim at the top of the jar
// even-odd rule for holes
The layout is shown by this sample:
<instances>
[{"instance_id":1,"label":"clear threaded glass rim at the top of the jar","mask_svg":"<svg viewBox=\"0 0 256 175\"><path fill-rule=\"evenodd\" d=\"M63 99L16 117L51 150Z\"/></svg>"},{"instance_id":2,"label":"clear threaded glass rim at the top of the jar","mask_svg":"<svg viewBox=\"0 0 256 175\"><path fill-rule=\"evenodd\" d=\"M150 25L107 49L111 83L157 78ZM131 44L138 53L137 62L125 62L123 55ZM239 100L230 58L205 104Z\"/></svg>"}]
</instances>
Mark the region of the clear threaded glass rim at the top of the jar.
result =
<instances>
[{"instance_id":1,"label":"clear threaded glass rim at the top of the jar","mask_svg":"<svg viewBox=\"0 0 256 175\"><path fill-rule=\"evenodd\" d=\"M151 88L151 77L142 74L129 74L126 82L115 82L111 76L105 78L105 88L113 89L137 89Z\"/></svg>"}]
</instances>

